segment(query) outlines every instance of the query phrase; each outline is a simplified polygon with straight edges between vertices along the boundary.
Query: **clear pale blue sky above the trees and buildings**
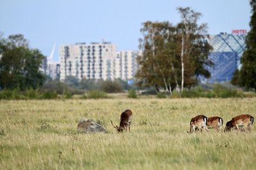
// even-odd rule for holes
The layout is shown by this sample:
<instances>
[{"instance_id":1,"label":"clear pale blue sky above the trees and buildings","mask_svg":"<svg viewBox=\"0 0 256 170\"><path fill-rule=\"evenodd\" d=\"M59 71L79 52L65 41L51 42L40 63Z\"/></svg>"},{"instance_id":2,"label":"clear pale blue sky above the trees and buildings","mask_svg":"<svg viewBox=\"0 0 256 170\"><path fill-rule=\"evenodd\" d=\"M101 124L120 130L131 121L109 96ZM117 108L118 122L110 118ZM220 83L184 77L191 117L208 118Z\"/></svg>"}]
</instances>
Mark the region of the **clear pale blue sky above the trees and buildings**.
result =
<instances>
[{"instance_id":1,"label":"clear pale blue sky above the trees and buildings","mask_svg":"<svg viewBox=\"0 0 256 170\"><path fill-rule=\"evenodd\" d=\"M209 34L250 30L249 0L0 0L0 32L23 34L31 48L49 56L56 43L110 41L117 50L138 50L142 23L180 21L177 7L202 13Z\"/></svg>"}]
</instances>

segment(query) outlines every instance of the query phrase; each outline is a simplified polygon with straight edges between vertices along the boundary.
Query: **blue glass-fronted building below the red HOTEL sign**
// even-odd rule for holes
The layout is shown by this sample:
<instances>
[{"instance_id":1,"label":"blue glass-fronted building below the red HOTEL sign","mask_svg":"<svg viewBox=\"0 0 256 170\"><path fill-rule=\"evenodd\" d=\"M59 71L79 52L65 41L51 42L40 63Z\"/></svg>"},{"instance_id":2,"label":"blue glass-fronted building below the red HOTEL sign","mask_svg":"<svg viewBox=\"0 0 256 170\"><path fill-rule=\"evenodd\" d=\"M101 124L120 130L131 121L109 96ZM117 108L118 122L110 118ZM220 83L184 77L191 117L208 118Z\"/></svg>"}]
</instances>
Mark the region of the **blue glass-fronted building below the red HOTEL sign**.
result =
<instances>
[{"instance_id":1,"label":"blue glass-fronted building below the red HOTEL sign","mask_svg":"<svg viewBox=\"0 0 256 170\"><path fill-rule=\"evenodd\" d=\"M211 78L200 78L203 83L230 81L234 71L241 67L240 59L245 50L246 31L232 31L232 34L221 32L207 36L213 50L209 59L214 62L213 67L206 67L211 72Z\"/></svg>"}]
</instances>

